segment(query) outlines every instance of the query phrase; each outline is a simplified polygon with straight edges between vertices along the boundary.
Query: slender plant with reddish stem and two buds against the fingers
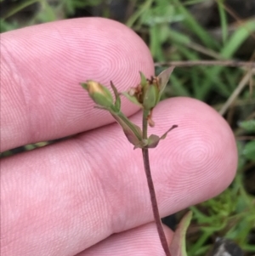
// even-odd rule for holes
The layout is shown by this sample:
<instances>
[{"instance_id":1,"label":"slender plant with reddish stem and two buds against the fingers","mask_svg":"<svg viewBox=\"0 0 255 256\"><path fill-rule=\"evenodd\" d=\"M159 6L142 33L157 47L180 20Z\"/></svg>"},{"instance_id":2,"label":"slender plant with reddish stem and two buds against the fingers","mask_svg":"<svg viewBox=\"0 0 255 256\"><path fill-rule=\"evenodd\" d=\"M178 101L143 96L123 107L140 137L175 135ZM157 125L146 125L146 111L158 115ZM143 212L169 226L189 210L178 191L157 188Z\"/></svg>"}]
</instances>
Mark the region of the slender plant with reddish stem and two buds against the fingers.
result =
<instances>
[{"instance_id":1,"label":"slender plant with reddish stem and two buds against the fingers","mask_svg":"<svg viewBox=\"0 0 255 256\"><path fill-rule=\"evenodd\" d=\"M88 94L92 100L96 103L95 108L99 108L105 111L109 111L111 116L116 119L126 135L128 141L133 144L133 149L140 148L142 150L144 160L144 171L147 178L147 183L150 191L150 202L152 205L153 215L156 222L156 229L161 240L161 245L167 256L171 256L169 247L167 245L167 239L164 234L164 230L161 225L161 218L156 202L156 192L153 185L153 180L150 173L150 160L149 149L155 148L161 139L165 139L167 134L177 128L177 125L173 125L163 135L158 136L151 134L147 135L148 124L150 127L155 126L155 122L152 120L152 111L161 98L161 94L167 85L169 77L173 72L174 67L169 67L167 70L162 71L158 77L145 78L144 74L140 72L141 81L135 88L130 88L127 92L119 93L111 82L111 88L115 94L115 100L113 99L111 92L108 88L95 82L88 80L82 82L82 88L88 91ZM143 111L143 127L139 128L136 124L131 122L121 111L121 98L120 95L124 95L128 100L136 105L139 105ZM173 254L173 253L172 253ZM184 255L184 254L183 254ZM172 255L175 256L175 255Z\"/></svg>"}]
</instances>

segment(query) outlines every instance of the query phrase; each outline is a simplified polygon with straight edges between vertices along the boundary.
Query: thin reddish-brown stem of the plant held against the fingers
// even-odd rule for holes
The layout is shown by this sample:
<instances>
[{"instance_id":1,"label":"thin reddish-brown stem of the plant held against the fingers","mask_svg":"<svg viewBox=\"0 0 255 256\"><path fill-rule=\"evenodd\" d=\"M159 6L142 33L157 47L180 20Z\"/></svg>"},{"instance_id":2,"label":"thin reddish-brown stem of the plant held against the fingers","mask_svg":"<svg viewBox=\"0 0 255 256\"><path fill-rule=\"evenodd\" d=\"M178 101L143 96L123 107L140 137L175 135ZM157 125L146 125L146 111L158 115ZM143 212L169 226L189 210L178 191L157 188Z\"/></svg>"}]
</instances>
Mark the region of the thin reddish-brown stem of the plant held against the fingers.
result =
<instances>
[{"instance_id":1,"label":"thin reddish-brown stem of the plant held against the fingers","mask_svg":"<svg viewBox=\"0 0 255 256\"><path fill-rule=\"evenodd\" d=\"M147 117L149 115L149 111L144 111L143 114L143 139L147 139L147 128L148 122ZM167 244L167 238L165 236L162 224L161 224L161 217L158 211L157 202L156 202L156 192L153 185L153 180L150 173L150 161L149 161L149 150L144 148L142 149L143 152L143 159L144 159L144 170L147 178L147 183L150 191L150 202L152 205L153 215L156 222L156 230L161 240L161 245L166 253L166 256L171 256L169 251L169 247Z\"/></svg>"}]
</instances>

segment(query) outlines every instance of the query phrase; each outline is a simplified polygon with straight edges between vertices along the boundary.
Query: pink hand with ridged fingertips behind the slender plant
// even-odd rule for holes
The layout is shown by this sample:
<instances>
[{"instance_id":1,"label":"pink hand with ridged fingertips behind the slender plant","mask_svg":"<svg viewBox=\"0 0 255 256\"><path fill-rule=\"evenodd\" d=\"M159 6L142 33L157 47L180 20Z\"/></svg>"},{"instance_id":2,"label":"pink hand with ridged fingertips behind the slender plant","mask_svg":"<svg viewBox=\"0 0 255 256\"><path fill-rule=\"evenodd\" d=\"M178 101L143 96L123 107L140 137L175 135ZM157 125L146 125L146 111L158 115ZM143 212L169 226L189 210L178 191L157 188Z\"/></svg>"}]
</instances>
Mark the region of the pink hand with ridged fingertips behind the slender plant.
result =
<instances>
[{"instance_id":1,"label":"pink hand with ridged fingertips behind the slender plant","mask_svg":"<svg viewBox=\"0 0 255 256\"><path fill-rule=\"evenodd\" d=\"M78 84L112 80L124 91L139 71L150 77L144 42L116 21L88 18L4 33L1 44L1 151L81 133L1 160L1 255L164 255L141 151ZM122 109L140 125L136 106L123 100ZM224 119L183 97L153 117L150 134L178 124L150 150L161 216L224 191L237 162Z\"/></svg>"}]
</instances>

